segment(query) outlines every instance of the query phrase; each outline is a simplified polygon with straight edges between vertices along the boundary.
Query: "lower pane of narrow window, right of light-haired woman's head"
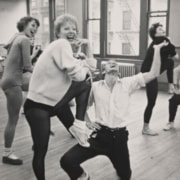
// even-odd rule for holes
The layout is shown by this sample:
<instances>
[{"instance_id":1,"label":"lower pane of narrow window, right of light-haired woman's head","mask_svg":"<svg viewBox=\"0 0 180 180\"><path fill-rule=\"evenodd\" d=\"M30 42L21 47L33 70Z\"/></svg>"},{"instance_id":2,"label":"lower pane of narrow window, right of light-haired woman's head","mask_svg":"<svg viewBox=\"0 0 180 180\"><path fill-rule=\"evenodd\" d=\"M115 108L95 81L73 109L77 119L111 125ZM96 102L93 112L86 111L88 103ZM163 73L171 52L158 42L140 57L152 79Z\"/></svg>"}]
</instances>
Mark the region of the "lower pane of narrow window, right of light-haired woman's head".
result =
<instances>
[{"instance_id":1,"label":"lower pane of narrow window, right of light-haired woman's head","mask_svg":"<svg viewBox=\"0 0 180 180\"><path fill-rule=\"evenodd\" d=\"M89 21L88 38L94 54L100 54L100 23L98 20Z\"/></svg>"}]
</instances>

